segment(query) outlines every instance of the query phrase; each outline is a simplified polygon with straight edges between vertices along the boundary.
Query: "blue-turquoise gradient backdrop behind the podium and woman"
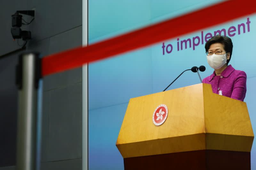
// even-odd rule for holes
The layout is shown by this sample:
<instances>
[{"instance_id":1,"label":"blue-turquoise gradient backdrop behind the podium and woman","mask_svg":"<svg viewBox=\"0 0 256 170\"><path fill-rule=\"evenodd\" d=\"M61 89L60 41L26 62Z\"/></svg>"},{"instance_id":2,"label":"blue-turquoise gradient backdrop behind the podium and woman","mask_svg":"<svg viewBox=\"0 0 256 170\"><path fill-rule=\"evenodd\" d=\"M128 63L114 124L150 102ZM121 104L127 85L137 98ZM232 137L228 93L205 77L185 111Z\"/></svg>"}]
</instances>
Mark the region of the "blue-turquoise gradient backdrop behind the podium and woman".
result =
<instances>
[{"instance_id":1,"label":"blue-turquoise gradient backdrop behind the podium and woman","mask_svg":"<svg viewBox=\"0 0 256 170\"><path fill-rule=\"evenodd\" d=\"M138 29L167 18L179 16L220 1L216 0L89 0L89 44L107 39L124 32ZM217 12L221 12L220 9ZM212 9L214 12L216 9ZM207 14L206 14L207 15ZM225 17L225 16L223 16ZM177 37L188 39L207 32L246 23L249 17L250 32L231 37L234 45L230 64L247 74L247 103L253 131L256 131L256 68L254 37L256 16L246 16L237 20L199 30L192 34ZM195 18L200 19L200 18ZM216 18L218 19L218 18ZM173 25L179 27L179 25ZM189 28L188 28L189 30ZM168 31L168 30L166 30ZM154 35L148 35L154 36ZM162 91L180 72L192 66L206 66L201 77L212 74L208 66L204 45L177 51L177 38L164 41L171 43L173 51L162 55L162 43L140 50L118 55L89 65L89 169L124 169L123 158L116 148L116 139L123 122L126 107L132 97ZM205 42L204 42L205 43ZM197 74L184 73L169 89L200 83ZM221 105L220 105L221 107ZM252 146L252 169L256 169L255 141Z\"/></svg>"}]
</instances>

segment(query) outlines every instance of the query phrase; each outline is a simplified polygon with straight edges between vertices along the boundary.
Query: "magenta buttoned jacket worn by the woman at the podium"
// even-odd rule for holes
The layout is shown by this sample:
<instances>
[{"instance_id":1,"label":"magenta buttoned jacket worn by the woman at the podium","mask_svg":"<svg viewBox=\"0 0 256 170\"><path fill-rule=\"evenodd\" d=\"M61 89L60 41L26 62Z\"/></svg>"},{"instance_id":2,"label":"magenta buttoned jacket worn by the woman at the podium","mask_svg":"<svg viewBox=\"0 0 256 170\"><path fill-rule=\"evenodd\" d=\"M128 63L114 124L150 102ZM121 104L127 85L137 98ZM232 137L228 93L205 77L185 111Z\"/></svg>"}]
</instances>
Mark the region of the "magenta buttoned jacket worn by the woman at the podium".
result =
<instances>
[{"instance_id":1,"label":"magenta buttoned jacket worn by the woman at the podium","mask_svg":"<svg viewBox=\"0 0 256 170\"><path fill-rule=\"evenodd\" d=\"M216 75L215 71L208 77L205 77L203 83L212 85L212 92L233 99L244 101L246 93L246 73L235 70L229 65L221 75Z\"/></svg>"}]
</instances>

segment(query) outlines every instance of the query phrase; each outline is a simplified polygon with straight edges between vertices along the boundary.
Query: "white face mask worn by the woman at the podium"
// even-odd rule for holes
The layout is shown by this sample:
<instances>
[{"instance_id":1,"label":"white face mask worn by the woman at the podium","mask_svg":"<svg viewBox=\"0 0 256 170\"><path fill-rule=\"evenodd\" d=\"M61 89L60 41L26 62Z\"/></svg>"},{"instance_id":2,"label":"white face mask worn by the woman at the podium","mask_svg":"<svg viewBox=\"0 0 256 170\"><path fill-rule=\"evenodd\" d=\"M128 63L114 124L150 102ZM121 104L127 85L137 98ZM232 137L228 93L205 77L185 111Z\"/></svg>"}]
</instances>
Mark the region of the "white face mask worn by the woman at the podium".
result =
<instances>
[{"instance_id":1,"label":"white face mask worn by the woman at the podium","mask_svg":"<svg viewBox=\"0 0 256 170\"><path fill-rule=\"evenodd\" d=\"M213 69L219 69L222 67L225 63L227 63L227 54L222 54L222 55L207 55L207 62L208 64L213 68Z\"/></svg>"}]
</instances>

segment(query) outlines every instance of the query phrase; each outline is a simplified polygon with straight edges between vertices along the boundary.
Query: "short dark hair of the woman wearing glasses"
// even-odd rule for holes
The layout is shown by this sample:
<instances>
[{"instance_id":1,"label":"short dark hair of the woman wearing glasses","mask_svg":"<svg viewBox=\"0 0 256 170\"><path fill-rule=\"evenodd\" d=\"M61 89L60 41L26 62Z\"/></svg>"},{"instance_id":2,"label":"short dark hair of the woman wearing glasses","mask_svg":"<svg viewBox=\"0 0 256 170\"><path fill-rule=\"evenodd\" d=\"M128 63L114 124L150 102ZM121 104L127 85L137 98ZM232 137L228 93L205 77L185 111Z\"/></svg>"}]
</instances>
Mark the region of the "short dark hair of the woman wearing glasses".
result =
<instances>
[{"instance_id":1,"label":"short dark hair of the woman wearing glasses","mask_svg":"<svg viewBox=\"0 0 256 170\"><path fill-rule=\"evenodd\" d=\"M216 36L213 36L211 39L209 39L206 43L205 43L205 52L207 52L210 48L210 46L214 43L220 43L224 46L224 50L227 52L227 53L230 53L230 58L227 60L227 65L231 59L231 55L232 55L232 51L233 51L233 43L232 43L232 40L227 37L227 36L224 36L224 35L216 35Z\"/></svg>"}]
</instances>

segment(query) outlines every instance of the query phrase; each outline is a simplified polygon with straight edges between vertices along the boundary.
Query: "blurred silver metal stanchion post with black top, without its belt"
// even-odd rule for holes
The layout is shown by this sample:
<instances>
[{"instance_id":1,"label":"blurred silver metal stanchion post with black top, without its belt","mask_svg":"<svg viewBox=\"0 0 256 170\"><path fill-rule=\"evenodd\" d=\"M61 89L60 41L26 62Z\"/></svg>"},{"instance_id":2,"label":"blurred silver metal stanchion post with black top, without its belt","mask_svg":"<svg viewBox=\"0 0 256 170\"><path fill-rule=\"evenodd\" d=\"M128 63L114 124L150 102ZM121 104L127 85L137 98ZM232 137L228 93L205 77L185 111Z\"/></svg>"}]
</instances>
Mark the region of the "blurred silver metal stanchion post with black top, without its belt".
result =
<instances>
[{"instance_id":1,"label":"blurred silver metal stanchion post with black top, without its belt","mask_svg":"<svg viewBox=\"0 0 256 170\"><path fill-rule=\"evenodd\" d=\"M17 170L36 169L37 88L41 62L37 53L23 53L16 68L19 89L17 129Z\"/></svg>"}]
</instances>

